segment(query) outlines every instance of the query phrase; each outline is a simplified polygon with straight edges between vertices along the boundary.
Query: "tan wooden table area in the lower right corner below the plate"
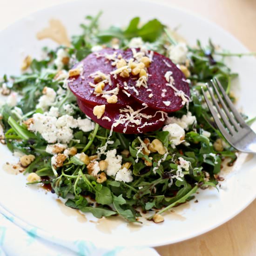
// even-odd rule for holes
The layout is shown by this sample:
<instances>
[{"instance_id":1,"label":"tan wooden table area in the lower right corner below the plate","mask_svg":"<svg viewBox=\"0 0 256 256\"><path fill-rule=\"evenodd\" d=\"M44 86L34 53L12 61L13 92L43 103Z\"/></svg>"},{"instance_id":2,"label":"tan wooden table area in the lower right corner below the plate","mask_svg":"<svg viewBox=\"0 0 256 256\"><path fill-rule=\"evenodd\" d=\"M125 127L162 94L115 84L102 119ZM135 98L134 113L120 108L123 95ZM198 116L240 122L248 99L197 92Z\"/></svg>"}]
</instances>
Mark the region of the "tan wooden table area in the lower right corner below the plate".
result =
<instances>
[{"instance_id":1,"label":"tan wooden table area in the lower right corner below the plate","mask_svg":"<svg viewBox=\"0 0 256 256\"><path fill-rule=\"evenodd\" d=\"M162 256L255 256L255 213L256 201L217 229L181 243L156 249Z\"/></svg>"}]
</instances>

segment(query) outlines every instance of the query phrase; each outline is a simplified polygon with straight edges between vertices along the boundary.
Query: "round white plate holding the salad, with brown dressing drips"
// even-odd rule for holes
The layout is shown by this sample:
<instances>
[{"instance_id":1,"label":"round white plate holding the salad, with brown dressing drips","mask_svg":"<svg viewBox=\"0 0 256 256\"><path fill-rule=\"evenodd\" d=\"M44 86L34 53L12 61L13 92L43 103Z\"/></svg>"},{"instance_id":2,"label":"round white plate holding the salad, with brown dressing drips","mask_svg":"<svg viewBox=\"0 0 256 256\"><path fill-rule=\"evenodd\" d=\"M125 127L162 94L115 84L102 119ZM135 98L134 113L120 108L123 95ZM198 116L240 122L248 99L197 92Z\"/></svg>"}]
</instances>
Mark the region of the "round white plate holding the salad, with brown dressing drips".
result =
<instances>
[{"instance_id":1,"label":"round white plate holding the salad, with brown dressing drips","mask_svg":"<svg viewBox=\"0 0 256 256\"><path fill-rule=\"evenodd\" d=\"M222 28L179 9L137 0L130 0L129 4L120 4L117 0L73 1L37 12L0 33L1 75L19 74L21 60L26 54L40 56L41 47L55 45L50 40L38 41L35 37L40 29L47 26L48 20L59 19L67 27L69 35L79 34L79 24L83 22L84 16L94 15L99 9L104 11L102 27L126 25L136 15L144 21L158 18L170 27L181 25L179 33L191 45L195 44L197 38L203 43L212 38L216 44L232 52L247 52L238 40ZM240 103L244 111L249 114L254 111L255 114L256 60L252 57L233 58L230 66L240 74ZM245 161L245 158L250 160ZM1 145L0 162L3 164L6 161L14 160L7 148ZM165 217L165 222L160 224L145 222L140 227L113 218L97 221L90 214L86 215L88 221L84 222L82 216L74 215L74 210L64 211L56 203L55 195L45 195L43 189L27 187L23 175L10 175L3 170L0 171L0 204L25 222L68 240L86 239L101 246L175 243L227 222L256 198L256 187L252 182L256 180L256 157L242 155L241 162L237 162L235 170L227 175L227 189L220 189L219 192L215 189L201 190L196 195L198 203L192 201L182 206L182 209L176 209L175 214L170 213Z\"/></svg>"}]
</instances>

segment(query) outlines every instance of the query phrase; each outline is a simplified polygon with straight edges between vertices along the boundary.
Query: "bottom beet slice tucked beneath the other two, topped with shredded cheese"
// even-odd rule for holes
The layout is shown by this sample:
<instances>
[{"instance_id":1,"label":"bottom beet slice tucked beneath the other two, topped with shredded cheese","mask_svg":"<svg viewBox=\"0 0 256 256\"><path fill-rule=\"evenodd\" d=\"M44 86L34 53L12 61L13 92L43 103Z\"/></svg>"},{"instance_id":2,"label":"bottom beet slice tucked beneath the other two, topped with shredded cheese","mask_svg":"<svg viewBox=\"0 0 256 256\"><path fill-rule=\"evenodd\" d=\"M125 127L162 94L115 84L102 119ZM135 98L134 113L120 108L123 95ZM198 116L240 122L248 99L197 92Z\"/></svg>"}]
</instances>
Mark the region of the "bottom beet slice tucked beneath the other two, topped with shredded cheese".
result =
<instances>
[{"instance_id":1,"label":"bottom beet slice tucked beneath the other two, topped with shredded cheese","mask_svg":"<svg viewBox=\"0 0 256 256\"><path fill-rule=\"evenodd\" d=\"M113 123L116 122L121 115L129 116L129 112L122 112L119 109L109 108L109 106L106 105L104 114L100 119L97 119L97 117L93 114L93 105L85 104L85 102L79 99L77 99L77 103L80 109L93 121L109 130L111 129ZM128 109L128 107L121 109ZM139 112L139 109L142 110ZM164 125L166 113L162 111L156 111L152 108L145 108L145 106L141 106L141 104L137 102L132 104L132 110L141 113L139 114L140 116L135 116L134 121L129 122L126 120L124 123L118 124L116 127L114 126L113 131L125 134L138 134L155 131Z\"/></svg>"}]
</instances>

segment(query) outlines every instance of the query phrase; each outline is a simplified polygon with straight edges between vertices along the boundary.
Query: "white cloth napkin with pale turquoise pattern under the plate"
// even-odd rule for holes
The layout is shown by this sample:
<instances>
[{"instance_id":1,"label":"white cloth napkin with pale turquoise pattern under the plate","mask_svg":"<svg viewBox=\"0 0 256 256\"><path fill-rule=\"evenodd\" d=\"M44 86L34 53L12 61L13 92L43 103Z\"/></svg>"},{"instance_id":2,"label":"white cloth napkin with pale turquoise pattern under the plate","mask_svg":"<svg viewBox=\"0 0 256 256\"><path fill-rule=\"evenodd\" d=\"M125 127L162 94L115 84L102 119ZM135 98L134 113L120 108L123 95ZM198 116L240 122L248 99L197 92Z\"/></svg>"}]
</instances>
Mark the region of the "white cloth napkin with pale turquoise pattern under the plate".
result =
<instances>
[{"instance_id":1,"label":"white cloth napkin with pale turquoise pattern under the plate","mask_svg":"<svg viewBox=\"0 0 256 256\"><path fill-rule=\"evenodd\" d=\"M28 225L0 206L0 256L159 256L149 247L104 249L93 243L63 241Z\"/></svg>"}]
</instances>

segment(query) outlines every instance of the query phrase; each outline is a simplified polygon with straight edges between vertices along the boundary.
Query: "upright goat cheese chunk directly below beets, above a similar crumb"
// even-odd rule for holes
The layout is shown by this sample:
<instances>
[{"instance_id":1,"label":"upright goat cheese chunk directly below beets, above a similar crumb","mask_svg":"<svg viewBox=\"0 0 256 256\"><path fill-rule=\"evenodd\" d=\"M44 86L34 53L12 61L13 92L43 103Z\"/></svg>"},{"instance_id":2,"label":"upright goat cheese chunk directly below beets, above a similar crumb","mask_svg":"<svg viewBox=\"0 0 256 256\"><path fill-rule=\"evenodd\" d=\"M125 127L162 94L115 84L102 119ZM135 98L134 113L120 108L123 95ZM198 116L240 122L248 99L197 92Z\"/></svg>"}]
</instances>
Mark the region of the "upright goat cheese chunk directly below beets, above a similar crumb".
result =
<instances>
[{"instance_id":1,"label":"upright goat cheese chunk directly below beets, above a similar crumb","mask_svg":"<svg viewBox=\"0 0 256 256\"><path fill-rule=\"evenodd\" d=\"M122 156L116 155L116 149L108 150L106 152L105 161L108 163L106 173L108 176L115 176L121 169Z\"/></svg>"}]
</instances>

